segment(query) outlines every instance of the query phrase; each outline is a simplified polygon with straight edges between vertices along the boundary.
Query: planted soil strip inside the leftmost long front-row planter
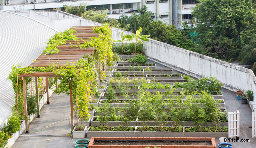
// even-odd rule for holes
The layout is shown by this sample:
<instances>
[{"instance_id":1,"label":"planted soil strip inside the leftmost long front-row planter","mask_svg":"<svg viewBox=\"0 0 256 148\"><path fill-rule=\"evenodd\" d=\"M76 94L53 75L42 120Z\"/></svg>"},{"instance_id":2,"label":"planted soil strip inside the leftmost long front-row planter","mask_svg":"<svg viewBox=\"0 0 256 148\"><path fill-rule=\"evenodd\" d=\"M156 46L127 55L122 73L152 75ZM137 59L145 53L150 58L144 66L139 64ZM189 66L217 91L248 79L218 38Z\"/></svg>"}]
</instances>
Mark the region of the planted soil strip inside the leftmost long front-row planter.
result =
<instances>
[{"instance_id":1,"label":"planted soil strip inside the leftmost long front-row planter","mask_svg":"<svg viewBox=\"0 0 256 148\"><path fill-rule=\"evenodd\" d=\"M90 131L134 131L133 126L90 126Z\"/></svg>"}]
</instances>

